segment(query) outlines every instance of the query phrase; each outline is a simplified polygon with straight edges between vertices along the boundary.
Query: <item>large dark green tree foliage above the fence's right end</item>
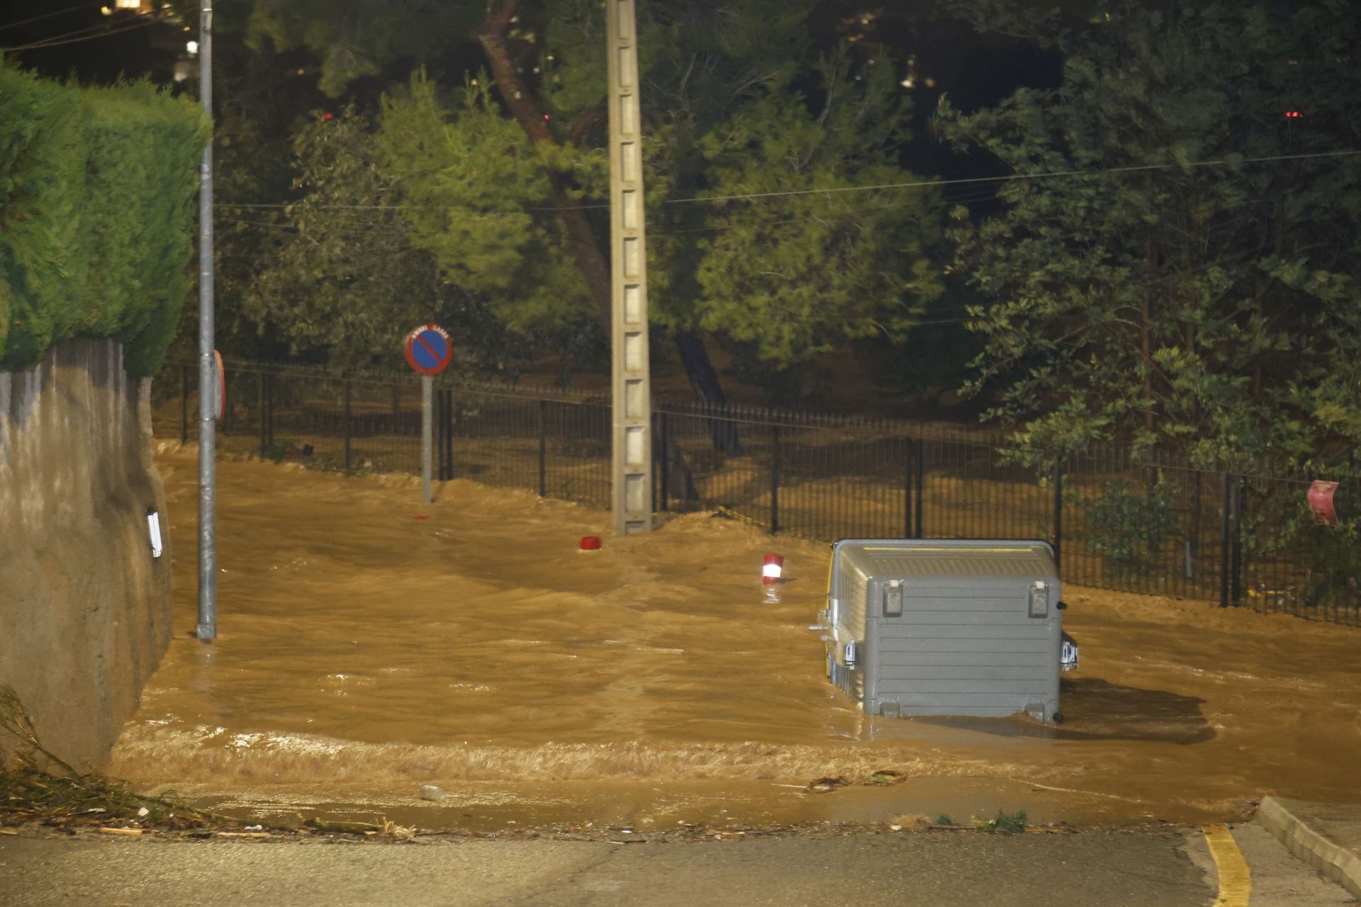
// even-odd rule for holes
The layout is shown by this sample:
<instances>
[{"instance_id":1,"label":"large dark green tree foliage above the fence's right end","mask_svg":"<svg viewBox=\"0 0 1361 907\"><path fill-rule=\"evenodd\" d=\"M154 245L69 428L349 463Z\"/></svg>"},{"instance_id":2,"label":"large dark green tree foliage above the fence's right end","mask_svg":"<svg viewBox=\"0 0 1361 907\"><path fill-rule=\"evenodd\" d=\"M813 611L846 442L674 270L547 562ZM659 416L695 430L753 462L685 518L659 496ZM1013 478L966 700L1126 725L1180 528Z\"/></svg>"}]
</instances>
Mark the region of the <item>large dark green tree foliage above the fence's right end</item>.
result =
<instances>
[{"instance_id":1,"label":"large dark green tree foliage above the fence's right end","mask_svg":"<svg viewBox=\"0 0 1361 907\"><path fill-rule=\"evenodd\" d=\"M1361 441L1361 34L1341 0L1273 10L1112 3L1055 38L1060 88L942 103L946 136L1018 177L999 216L957 212L955 268L988 299L972 389L1037 454Z\"/></svg>"}]
</instances>

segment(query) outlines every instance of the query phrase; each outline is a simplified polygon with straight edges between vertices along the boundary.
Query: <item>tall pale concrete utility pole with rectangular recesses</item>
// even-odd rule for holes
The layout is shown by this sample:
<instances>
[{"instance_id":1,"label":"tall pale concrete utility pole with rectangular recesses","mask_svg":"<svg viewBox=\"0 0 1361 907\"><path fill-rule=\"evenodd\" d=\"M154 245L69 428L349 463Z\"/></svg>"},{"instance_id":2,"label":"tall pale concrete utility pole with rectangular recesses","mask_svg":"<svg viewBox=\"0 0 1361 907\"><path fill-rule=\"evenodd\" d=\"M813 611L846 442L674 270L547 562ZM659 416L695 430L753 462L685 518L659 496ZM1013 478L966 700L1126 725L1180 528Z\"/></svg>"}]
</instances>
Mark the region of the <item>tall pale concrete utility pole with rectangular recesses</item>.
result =
<instances>
[{"instance_id":1,"label":"tall pale concrete utility pole with rectangular recesses","mask_svg":"<svg viewBox=\"0 0 1361 907\"><path fill-rule=\"evenodd\" d=\"M648 254L642 233L642 125L634 0L606 0L610 54L610 268L614 530L652 530L652 381Z\"/></svg>"}]
</instances>

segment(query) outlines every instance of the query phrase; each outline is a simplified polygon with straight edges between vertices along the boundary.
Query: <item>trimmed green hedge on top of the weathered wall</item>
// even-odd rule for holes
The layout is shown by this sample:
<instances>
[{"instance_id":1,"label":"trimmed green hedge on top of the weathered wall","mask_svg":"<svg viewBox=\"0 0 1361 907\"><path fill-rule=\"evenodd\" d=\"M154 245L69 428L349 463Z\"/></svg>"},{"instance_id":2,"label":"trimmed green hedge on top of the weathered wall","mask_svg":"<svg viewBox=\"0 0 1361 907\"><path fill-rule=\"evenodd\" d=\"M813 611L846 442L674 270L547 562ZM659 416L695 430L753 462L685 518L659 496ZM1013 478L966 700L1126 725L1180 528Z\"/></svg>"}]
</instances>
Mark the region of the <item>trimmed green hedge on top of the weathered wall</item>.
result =
<instances>
[{"instance_id":1,"label":"trimmed green hedge on top of the weathered wall","mask_svg":"<svg viewBox=\"0 0 1361 907\"><path fill-rule=\"evenodd\" d=\"M201 110L147 83L82 88L0 67L0 370L67 337L161 367L195 286Z\"/></svg>"}]
</instances>

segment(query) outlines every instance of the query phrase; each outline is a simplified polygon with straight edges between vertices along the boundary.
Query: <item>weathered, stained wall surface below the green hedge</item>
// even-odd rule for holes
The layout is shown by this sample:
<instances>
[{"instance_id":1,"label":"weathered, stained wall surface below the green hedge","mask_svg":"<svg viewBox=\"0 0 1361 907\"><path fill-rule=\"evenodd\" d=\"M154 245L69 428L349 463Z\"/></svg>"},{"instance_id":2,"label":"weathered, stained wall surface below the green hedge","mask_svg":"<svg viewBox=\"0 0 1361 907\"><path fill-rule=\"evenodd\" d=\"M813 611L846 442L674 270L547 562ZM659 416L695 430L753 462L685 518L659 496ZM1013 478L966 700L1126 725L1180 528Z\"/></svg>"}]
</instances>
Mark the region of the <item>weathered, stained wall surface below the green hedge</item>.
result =
<instances>
[{"instance_id":1,"label":"weathered, stained wall surface below the green hedge","mask_svg":"<svg viewBox=\"0 0 1361 907\"><path fill-rule=\"evenodd\" d=\"M150 390L112 340L68 340L33 371L0 373L0 683L80 768L108 761L170 642Z\"/></svg>"}]
</instances>

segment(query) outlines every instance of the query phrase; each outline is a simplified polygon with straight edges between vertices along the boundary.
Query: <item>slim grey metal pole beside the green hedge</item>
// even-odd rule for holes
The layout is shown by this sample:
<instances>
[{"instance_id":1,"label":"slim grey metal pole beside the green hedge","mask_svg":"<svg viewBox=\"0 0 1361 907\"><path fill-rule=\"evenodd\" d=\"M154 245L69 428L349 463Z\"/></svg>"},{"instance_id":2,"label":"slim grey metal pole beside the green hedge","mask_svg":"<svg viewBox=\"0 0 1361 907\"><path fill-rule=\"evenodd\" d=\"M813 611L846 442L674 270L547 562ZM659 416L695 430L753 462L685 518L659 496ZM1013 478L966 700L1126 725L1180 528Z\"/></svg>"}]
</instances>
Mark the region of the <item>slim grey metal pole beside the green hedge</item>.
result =
<instances>
[{"instance_id":1,"label":"slim grey metal pole beside the green hedge","mask_svg":"<svg viewBox=\"0 0 1361 907\"><path fill-rule=\"evenodd\" d=\"M212 120L212 0L199 5L199 97ZM212 362L212 139L199 162L199 639L218 635L216 416Z\"/></svg>"}]
</instances>

